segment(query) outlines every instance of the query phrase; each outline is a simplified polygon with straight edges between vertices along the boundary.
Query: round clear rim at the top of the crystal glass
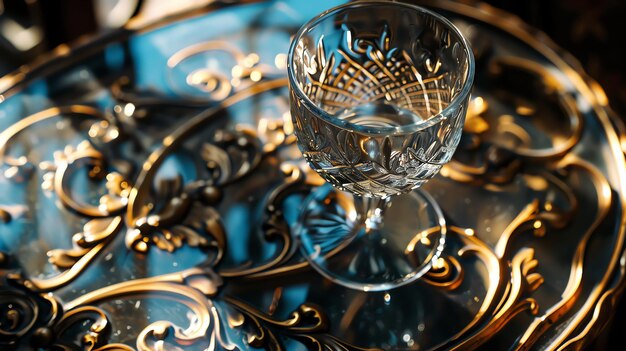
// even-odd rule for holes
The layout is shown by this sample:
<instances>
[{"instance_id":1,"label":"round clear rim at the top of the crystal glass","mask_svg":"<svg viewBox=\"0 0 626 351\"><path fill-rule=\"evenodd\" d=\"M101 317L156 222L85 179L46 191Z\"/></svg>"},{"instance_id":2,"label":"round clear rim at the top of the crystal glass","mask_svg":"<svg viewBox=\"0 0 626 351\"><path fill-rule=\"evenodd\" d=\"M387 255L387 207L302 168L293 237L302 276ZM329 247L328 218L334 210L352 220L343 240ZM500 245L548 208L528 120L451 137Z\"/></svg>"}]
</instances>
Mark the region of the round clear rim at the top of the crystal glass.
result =
<instances>
[{"instance_id":1,"label":"round clear rim at the top of the crystal glass","mask_svg":"<svg viewBox=\"0 0 626 351\"><path fill-rule=\"evenodd\" d=\"M464 46L463 50L467 54L467 72L465 73L465 81L463 82L463 88L461 89L461 91L457 93L457 95L452 99L452 101L450 101L448 106L446 106L441 112L437 113L436 115L432 116L431 118L425 121L405 124L405 125L401 125L398 127L363 126L363 125L358 125L358 124L348 122L346 120L337 118L329 114L324 109L320 108L317 104L315 104L302 91L302 88L300 87L300 85L296 83L296 80L293 74L292 62L294 58L296 45L298 41L300 40L300 38L302 38L303 34L310 28L316 26L319 22L325 20L330 15L334 15L342 10L368 6L368 5L404 7L413 11L418 11L420 13L432 16L437 21L443 23L446 27L448 27L448 29L451 30L460 39L460 42ZM335 6L333 8L330 8L320 13L319 15L313 17L311 20L303 24L300 27L300 29L296 32L296 34L293 37L293 40L291 41L291 45L289 46L289 53L287 55L287 75L289 76L289 84L291 85L291 89L295 91L296 95L299 98L301 98L301 101L312 112L316 113L316 115L319 115L321 118L328 121L329 123L337 127L343 128L343 129L350 129L350 130L354 130L354 131L366 133L366 134L401 134L401 133L407 133L407 132L416 132L416 131L428 128L430 126L433 126L434 124L440 122L448 114L447 112L457 109L459 105L461 105L461 103L465 100L465 98L467 98L470 91L472 90L472 84L474 82L474 65L475 65L474 53L472 52L472 48L469 42L467 41L467 38L465 38L465 36L461 34L461 31L450 20L448 20L447 18L443 17L442 15L434 11L428 10L421 6L402 3L402 2L396 2L396 1L384 1L384 0L348 2L339 6Z\"/></svg>"}]
</instances>

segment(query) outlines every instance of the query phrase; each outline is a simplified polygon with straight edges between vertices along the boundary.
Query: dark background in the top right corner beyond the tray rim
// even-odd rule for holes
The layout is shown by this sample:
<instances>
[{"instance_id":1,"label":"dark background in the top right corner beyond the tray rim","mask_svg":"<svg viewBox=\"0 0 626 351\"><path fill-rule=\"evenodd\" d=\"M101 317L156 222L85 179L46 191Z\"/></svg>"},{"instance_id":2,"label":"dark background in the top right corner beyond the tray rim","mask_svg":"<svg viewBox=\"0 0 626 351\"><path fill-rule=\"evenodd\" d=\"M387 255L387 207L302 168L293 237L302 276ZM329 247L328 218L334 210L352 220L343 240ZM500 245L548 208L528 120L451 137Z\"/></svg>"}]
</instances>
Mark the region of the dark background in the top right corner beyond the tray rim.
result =
<instances>
[{"instance_id":1,"label":"dark background in the top right corner beyond the tray rim","mask_svg":"<svg viewBox=\"0 0 626 351\"><path fill-rule=\"evenodd\" d=\"M464 1L472 3L474 1ZM486 0L541 29L574 55L626 116L626 1Z\"/></svg>"}]
</instances>

